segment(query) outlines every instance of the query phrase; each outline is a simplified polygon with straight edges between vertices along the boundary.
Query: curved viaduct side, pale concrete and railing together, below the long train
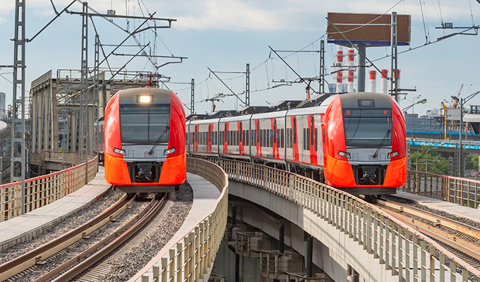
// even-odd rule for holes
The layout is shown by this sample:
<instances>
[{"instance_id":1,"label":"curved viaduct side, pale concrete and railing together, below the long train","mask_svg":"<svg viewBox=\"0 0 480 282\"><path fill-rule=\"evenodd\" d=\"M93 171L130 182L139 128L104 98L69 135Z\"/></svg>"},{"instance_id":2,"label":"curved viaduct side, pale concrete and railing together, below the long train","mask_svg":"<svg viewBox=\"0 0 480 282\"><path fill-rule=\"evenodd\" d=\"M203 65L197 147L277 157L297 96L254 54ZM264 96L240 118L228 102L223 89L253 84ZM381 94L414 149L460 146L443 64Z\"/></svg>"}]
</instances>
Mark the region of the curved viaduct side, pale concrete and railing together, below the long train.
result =
<instances>
[{"instance_id":1,"label":"curved viaduct side, pale concrete and railing together, below the long train","mask_svg":"<svg viewBox=\"0 0 480 282\"><path fill-rule=\"evenodd\" d=\"M337 255L342 259L340 264L361 266L356 271L368 281L385 281L385 271L397 276L395 280L399 281L467 281L480 277L480 271L463 264L430 238L346 192L268 166L227 159L209 160L224 168L231 180L278 196L276 200L265 199L251 192L248 200L260 201L258 204L274 212L281 205L281 199L301 207L292 222L309 222L300 226L331 252L340 254ZM342 235L335 236L335 233ZM352 245L361 246L361 253L352 252ZM384 271L378 271L380 268ZM327 269L323 270L328 273Z\"/></svg>"}]
</instances>

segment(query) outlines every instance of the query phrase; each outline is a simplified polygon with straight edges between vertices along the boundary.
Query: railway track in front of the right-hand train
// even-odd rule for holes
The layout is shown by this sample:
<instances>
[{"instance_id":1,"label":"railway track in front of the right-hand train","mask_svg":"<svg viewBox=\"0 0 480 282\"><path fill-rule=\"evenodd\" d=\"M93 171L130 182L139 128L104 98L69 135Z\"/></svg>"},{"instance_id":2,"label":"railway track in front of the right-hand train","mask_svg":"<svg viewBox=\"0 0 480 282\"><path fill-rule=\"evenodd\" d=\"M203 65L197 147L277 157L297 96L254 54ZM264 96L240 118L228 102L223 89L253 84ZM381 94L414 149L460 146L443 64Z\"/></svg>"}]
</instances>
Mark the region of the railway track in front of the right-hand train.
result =
<instances>
[{"instance_id":1,"label":"railway track in front of the right-hand train","mask_svg":"<svg viewBox=\"0 0 480 282\"><path fill-rule=\"evenodd\" d=\"M480 271L480 229L398 202L374 199L380 209L407 223Z\"/></svg>"}]
</instances>

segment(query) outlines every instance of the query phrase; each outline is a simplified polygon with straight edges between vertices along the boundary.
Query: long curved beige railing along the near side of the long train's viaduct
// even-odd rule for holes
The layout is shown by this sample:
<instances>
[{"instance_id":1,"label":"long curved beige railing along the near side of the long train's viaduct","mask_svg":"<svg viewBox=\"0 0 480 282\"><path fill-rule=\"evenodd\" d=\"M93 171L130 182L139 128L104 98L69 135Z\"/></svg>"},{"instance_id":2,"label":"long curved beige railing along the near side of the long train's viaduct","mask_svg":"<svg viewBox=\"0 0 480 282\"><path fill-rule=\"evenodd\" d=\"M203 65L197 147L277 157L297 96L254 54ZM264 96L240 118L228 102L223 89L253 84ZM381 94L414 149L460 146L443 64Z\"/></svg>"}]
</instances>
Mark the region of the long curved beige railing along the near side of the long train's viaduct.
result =
<instances>
[{"instance_id":1,"label":"long curved beige railing along the near side of the long train's viaduct","mask_svg":"<svg viewBox=\"0 0 480 282\"><path fill-rule=\"evenodd\" d=\"M480 281L480 271L425 235L346 192L268 166L209 160L224 168L231 180L279 195L335 226L349 240L363 245L373 263L383 264L392 275L399 276L399 281Z\"/></svg>"}]
</instances>

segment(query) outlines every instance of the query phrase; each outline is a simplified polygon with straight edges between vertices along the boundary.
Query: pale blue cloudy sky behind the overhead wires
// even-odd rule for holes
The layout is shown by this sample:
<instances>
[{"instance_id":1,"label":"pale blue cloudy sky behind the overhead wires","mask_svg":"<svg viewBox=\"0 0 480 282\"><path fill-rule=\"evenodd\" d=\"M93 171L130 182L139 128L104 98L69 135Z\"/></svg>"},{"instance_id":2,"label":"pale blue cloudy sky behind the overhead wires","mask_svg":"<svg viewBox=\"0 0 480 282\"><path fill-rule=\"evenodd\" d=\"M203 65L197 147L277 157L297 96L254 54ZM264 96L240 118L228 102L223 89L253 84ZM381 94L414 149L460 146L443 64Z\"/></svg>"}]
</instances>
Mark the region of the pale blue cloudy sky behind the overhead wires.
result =
<instances>
[{"instance_id":1,"label":"pale blue cloudy sky behind the overhead wires","mask_svg":"<svg viewBox=\"0 0 480 282\"><path fill-rule=\"evenodd\" d=\"M32 38L47 25L57 11L63 10L71 0L27 0L25 1L25 32ZM246 63L251 71L251 105L265 106L286 99L306 99L303 83L291 86L277 86L280 82L294 81L298 77L283 63L270 47L279 50L289 66L304 78L318 76L320 39L326 40L328 12L342 13L391 13L411 16L411 42L408 47L399 47L398 57L401 70L401 87L416 89L416 92L402 95L400 107L411 105L419 99L427 99L426 104L414 106L420 115L440 108L440 102L451 102L451 96L460 97L480 90L479 35L455 35L436 42L438 37L461 30L441 30L442 22L453 23L455 27L480 25L480 3L476 0L96 0L89 3L99 13L115 10L116 15L143 16L155 13L157 18L173 18L171 28L158 28L157 35L152 30L139 33L136 41L128 39L126 47L116 51L121 54L136 54L138 44L149 44L150 54L161 56L186 57L182 63L169 63L158 72L170 78L163 87L176 92L187 107L190 107L190 86L181 84L195 79L195 109L198 114L212 111L208 99L225 95L217 101L218 109L240 109L245 100ZM13 63L13 42L15 22L15 1L0 0L0 65ZM76 1L71 11L81 11L80 1ZM140 20L108 20L92 17L95 28L109 53L126 37L124 30L133 31ZM164 25L161 20L156 25ZM150 22L150 25L154 25ZM88 66L93 66L95 32L89 21ZM81 17L63 13L25 47L26 91L32 80L49 70L80 69L81 56ZM472 31L470 31L472 33ZM335 44L325 44L326 73L335 71ZM296 52L302 50L302 52ZM308 51L308 52L307 52ZM347 49L344 49L347 52ZM390 47L367 48L366 56L374 61L379 69L390 69ZM102 56L100 57L102 60ZM127 56L111 56L112 68L121 68ZM358 58L356 58L358 61ZM158 58L157 66L179 59ZM107 68L106 63L102 68ZM217 75L232 92L222 85L208 68ZM155 71L155 67L145 57L138 57L128 63L128 71ZM373 67L366 71L374 70ZM226 73L220 73L226 72ZM389 72L390 73L390 72ZM346 74L344 74L346 75ZM379 77L379 75L377 75ZM56 74L54 74L56 77ZM368 77L368 75L367 75ZM6 92L7 104L12 101L13 78L11 68L0 69L0 92ZM334 75L326 77L328 83L335 83ZM318 82L312 82L313 90L318 91ZM366 82L368 89L368 81ZM380 90L380 81L377 82ZM420 97L418 97L420 95ZM207 100L207 101L205 101ZM480 105L480 95L472 98L469 104ZM186 109L187 113L190 111ZM409 110L409 112L411 112Z\"/></svg>"}]
</instances>

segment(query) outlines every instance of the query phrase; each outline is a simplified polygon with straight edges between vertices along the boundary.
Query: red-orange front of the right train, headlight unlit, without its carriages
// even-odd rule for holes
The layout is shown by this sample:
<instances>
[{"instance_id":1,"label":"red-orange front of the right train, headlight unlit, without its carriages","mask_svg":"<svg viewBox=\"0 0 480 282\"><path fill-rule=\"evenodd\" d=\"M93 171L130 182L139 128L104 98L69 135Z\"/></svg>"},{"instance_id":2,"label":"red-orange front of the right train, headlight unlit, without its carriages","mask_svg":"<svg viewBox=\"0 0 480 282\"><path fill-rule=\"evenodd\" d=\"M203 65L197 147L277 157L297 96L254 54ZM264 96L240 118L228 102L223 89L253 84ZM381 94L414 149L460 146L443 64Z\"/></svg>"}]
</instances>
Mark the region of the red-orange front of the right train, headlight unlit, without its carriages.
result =
<instances>
[{"instance_id":1,"label":"red-orange front of the right train, headlight unlit, without its carriages","mask_svg":"<svg viewBox=\"0 0 480 282\"><path fill-rule=\"evenodd\" d=\"M385 94L351 93L332 99L327 124L325 179L356 194L395 193L406 180L405 121Z\"/></svg>"}]
</instances>

